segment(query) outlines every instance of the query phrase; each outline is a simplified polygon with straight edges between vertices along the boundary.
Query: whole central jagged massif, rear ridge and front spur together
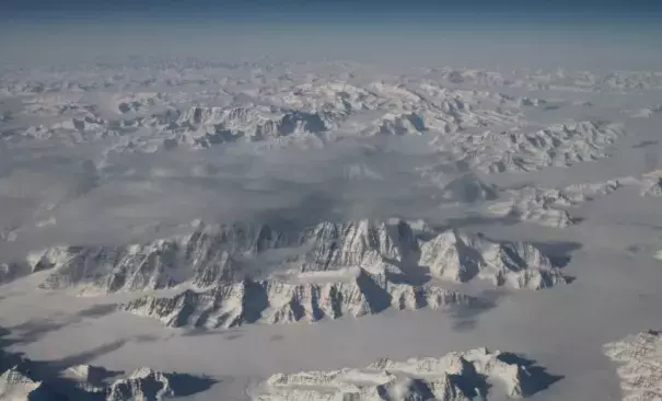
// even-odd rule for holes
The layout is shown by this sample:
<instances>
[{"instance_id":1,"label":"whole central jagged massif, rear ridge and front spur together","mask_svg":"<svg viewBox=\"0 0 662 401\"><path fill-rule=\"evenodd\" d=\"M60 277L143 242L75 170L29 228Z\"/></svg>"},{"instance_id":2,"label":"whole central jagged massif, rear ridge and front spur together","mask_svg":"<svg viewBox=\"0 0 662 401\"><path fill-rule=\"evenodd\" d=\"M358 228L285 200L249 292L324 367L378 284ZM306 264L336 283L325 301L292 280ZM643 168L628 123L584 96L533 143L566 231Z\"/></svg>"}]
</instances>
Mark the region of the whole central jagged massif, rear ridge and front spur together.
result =
<instances>
[{"instance_id":1,"label":"whole central jagged massif, rear ridge and front spur together","mask_svg":"<svg viewBox=\"0 0 662 401\"><path fill-rule=\"evenodd\" d=\"M560 261L527 242L434 230L399 219L320 222L303 230L200 225L185 236L123 247L58 247L31 254L46 289L88 295L159 290L124 310L171 326L317 321L479 303L444 283L539 289L569 283Z\"/></svg>"}]
</instances>

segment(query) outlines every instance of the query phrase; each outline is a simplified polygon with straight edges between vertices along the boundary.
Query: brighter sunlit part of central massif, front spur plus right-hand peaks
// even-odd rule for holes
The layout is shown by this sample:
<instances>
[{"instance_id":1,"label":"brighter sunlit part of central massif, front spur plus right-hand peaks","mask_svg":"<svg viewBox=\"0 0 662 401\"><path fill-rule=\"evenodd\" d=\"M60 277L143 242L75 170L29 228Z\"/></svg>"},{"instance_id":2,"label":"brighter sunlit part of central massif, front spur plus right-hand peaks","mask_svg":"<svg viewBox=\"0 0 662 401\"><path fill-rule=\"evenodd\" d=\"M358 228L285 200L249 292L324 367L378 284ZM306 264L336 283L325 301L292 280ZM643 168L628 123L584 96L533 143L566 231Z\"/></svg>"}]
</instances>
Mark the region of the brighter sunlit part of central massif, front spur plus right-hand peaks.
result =
<instances>
[{"instance_id":1,"label":"brighter sunlit part of central massif, front spur plus right-hand peaks","mask_svg":"<svg viewBox=\"0 0 662 401\"><path fill-rule=\"evenodd\" d=\"M231 328L479 302L437 285L413 285L407 280L411 261L429 276L455 283L483 279L495 286L541 289L571 280L557 262L533 244L493 241L455 230L417 238L404 221L325 222L304 238L310 242L307 251L283 265L294 266L287 278L246 277L239 283L219 283L206 291L144 296L123 309L169 326Z\"/></svg>"}]
</instances>

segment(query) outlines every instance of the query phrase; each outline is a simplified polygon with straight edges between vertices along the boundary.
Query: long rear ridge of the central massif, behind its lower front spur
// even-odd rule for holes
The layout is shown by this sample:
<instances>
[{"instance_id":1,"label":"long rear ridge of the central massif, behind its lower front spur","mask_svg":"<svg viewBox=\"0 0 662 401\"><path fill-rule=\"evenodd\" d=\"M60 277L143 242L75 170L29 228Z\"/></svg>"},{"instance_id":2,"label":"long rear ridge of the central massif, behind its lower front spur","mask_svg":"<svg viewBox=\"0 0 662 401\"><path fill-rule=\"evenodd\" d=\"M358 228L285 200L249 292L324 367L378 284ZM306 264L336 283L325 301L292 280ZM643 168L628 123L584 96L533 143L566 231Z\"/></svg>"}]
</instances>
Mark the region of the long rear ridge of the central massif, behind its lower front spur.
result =
<instances>
[{"instance_id":1,"label":"long rear ridge of the central massif, behind its lower front spur","mask_svg":"<svg viewBox=\"0 0 662 401\"><path fill-rule=\"evenodd\" d=\"M272 257L279 253L282 255ZM361 268L372 274L408 275L420 266L432 276L455 282L488 278L495 285L518 288L564 282L557 266L532 244L490 241L457 231L421 236L403 220L324 221L303 230L202 225L190 234L150 243L58 247L28 257L32 271L53 272L40 287L77 287L88 294L163 289L184 283L194 289L224 288L246 275L255 278L256 272L269 276L268 272Z\"/></svg>"}]
</instances>

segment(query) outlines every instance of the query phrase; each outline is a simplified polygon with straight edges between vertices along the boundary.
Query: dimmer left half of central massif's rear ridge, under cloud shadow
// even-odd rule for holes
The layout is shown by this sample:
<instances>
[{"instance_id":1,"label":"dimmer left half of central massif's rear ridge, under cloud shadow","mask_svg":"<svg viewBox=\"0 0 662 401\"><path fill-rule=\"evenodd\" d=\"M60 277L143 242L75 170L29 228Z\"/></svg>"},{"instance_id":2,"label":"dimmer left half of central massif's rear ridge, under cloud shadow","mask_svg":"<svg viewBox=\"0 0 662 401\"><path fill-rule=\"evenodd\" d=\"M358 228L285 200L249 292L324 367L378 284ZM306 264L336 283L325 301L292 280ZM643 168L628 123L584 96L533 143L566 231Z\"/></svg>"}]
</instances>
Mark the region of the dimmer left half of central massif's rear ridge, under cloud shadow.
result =
<instances>
[{"instance_id":1,"label":"dimmer left half of central massif's rear ridge, under cloud shadow","mask_svg":"<svg viewBox=\"0 0 662 401\"><path fill-rule=\"evenodd\" d=\"M234 279L232 255L263 252L280 240L267 226L220 225L143 244L58 247L33 253L28 263L33 270L54 271L40 285L48 289L115 293L169 288L185 280L207 287Z\"/></svg>"}]
</instances>

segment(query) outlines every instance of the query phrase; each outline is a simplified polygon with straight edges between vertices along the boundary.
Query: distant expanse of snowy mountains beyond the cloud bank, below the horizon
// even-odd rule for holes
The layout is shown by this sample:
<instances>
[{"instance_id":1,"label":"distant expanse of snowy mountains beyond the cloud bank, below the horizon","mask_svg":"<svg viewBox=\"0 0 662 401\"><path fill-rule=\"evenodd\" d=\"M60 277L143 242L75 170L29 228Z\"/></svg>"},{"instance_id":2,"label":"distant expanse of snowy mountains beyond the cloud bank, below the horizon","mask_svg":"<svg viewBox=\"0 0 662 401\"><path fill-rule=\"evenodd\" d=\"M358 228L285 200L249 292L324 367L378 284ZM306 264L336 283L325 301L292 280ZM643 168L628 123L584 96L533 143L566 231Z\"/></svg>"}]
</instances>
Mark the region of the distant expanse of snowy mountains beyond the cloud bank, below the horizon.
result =
<instances>
[{"instance_id":1,"label":"distant expanse of snowy mountains beyond the cloud bank, below the horizon","mask_svg":"<svg viewBox=\"0 0 662 401\"><path fill-rule=\"evenodd\" d=\"M337 133L427 134L438 136L439 151L451 152L458 163L483 172L498 172L533 171L607 157L611 146L625 134L619 124L597 119L541 128L526 123L524 110L551 107L549 102L489 90L495 85L548 87L554 81L565 85L600 84L596 77L581 73L570 80L568 72L530 73L524 80L527 83L491 71L444 68L406 79L393 76L358 80L349 76L284 73L267 82L264 77L247 79L230 72L222 81L216 76L198 80L217 81L221 89L195 93L150 91L140 81L132 91L123 88L121 95L113 94L98 103L88 102L81 94L61 96L60 91L69 90L57 87L30 92L31 102L18 113L38 113L44 116L42 124L12 125L3 137L66 138L67 142L81 142L130 136L130 146L115 144L109 149L153 152L179 145L208 148L237 140L278 142L288 137L327 140ZM659 81L651 75L614 73L603 83L618 87L620 83L616 82L636 79ZM164 80L169 84L174 82L172 77ZM191 82L179 81L178 84ZM458 83L485 88L455 88ZM19 87L14 90L21 91ZM12 118L16 117L14 114ZM133 135L138 131L140 135Z\"/></svg>"}]
</instances>

